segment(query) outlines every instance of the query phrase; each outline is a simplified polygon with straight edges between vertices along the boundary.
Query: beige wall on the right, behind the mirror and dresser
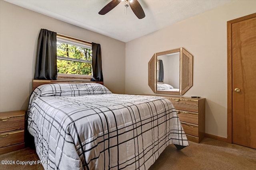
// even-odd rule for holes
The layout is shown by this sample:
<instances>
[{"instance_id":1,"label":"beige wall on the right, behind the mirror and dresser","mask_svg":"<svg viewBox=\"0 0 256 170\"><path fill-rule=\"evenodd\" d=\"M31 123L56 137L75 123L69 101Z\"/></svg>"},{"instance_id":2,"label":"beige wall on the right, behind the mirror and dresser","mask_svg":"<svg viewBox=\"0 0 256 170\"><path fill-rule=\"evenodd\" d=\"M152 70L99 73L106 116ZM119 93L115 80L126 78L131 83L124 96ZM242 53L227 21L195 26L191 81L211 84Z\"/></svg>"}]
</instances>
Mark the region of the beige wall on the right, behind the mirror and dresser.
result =
<instances>
[{"instance_id":1,"label":"beige wall on the right, behind the mirror and dresser","mask_svg":"<svg viewBox=\"0 0 256 170\"><path fill-rule=\"evenodd\" d=\"M154 53L184 47L194 56L194 82L184 96L206 98L206 133L226 138L226 23L255 12L256 1L234 1L126 43L126 94L153 94L148 61Z\"/></svg>"}]
</instances>

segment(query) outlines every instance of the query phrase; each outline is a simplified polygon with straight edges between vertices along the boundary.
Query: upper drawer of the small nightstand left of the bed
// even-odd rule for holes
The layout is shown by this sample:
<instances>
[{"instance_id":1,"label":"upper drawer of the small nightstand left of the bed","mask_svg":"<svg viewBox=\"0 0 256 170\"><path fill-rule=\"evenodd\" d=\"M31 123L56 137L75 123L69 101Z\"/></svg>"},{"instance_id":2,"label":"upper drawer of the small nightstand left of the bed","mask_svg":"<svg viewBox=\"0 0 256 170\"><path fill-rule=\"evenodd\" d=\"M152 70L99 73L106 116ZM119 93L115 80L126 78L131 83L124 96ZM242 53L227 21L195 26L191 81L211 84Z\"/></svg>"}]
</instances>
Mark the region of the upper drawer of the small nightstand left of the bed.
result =
<instances>
[{"instance_id":1,"label":"upper drawer of the small nightstand left of the bed","mask_svg":"<svg viewBox=\"0 0 256 170\"><path fill-rule=\"evenodd\" d=\"M0 117L0 133L24 129L24 115Z\"/></svg>"}]
</instances>

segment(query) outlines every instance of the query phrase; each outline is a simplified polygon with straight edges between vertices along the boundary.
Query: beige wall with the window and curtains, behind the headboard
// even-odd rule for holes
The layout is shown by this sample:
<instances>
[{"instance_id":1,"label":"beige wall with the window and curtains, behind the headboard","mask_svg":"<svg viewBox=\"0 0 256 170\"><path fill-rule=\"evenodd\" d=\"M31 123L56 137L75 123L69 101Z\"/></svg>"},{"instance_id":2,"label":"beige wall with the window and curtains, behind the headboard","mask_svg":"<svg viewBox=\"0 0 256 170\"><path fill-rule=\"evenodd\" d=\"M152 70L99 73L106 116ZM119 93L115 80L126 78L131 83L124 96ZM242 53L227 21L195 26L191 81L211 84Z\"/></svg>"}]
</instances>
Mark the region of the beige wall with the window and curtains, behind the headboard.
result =
<instances>
[{"instance_id":1,"label":"beige wall with the window and curtains, behind the headboard","mask_svg":"<svg viewBox=\"0 0 256 170\"><path fill-rule=\"evenodd\" d=\"M125 92L125 43L0 0L0 111L28 106L41 28L100 43L104 85Z\"/></svg>"}]
</instances>

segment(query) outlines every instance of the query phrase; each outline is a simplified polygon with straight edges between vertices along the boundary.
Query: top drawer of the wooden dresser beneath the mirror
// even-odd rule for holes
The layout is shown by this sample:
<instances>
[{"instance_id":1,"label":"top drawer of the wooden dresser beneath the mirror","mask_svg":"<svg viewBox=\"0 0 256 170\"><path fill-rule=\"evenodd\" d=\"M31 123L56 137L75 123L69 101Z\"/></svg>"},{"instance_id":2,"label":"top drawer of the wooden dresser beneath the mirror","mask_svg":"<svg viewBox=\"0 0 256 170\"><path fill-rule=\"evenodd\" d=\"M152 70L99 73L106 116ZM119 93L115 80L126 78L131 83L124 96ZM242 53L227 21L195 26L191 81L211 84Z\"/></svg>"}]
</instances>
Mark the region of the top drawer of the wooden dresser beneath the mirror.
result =
<instances>
[{"instance_id":1,"label":"top drawer of the wooden dresser beneath the mirror","mask_svg":"<svg viewBox=\"0 0 256 170\"><path fill-rule=\"evenodd\" d=\"M192 111L198 113L198 100L192 99L180 99L180 98L168 98L175 109L184 110L184 111Z\"/></svg>"}]
</instances>

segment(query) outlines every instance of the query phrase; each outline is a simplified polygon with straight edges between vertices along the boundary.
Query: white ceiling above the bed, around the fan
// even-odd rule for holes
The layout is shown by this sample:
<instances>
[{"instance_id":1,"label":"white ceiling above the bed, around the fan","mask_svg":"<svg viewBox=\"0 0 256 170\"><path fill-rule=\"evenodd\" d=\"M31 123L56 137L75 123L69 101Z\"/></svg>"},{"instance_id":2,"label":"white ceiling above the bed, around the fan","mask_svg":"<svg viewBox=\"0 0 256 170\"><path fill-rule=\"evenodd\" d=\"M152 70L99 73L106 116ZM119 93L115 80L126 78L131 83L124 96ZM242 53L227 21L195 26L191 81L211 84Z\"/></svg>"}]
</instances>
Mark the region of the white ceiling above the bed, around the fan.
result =
<instances>
[{"instance_id":1,"label":"white ceiling above the bed, around the fan","mask_svg":"<svg viewBox=\"0 0 256 170\"><path fill-rule=\"evenodd\" d=\"M120 2L105 15L98 12L111 0L6 0L73 25L128 42L233 0L138 0L146 17L139 20ZM210 18L209 18L210 20Z\"/></svg>"}]
</instances>

